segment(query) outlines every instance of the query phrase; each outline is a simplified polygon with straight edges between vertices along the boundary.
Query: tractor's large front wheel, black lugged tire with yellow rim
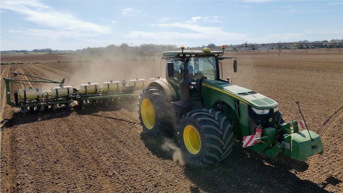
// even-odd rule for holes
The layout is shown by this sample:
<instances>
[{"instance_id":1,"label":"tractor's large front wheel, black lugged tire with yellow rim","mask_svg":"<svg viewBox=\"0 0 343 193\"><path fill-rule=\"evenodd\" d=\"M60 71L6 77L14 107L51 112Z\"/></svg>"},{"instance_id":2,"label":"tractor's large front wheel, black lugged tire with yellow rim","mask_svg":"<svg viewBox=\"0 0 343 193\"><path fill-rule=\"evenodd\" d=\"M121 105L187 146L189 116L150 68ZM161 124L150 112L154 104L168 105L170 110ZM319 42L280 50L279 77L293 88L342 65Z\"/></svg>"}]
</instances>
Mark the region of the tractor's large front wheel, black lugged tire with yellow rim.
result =
<instances>
[{"instance_id":1,"label":"tractor's large front wheel, black lugged tire with yellow rim","mask_svg":"<svg viewBox=\"0 0 343 193\"><path fill-rule=\"evenodd\" d=\"M225 159L232 151L232 125L220 111L190 111L180 119L178 129L182 156L188 164L213 164Z\"/></svg>"}]
</instances>

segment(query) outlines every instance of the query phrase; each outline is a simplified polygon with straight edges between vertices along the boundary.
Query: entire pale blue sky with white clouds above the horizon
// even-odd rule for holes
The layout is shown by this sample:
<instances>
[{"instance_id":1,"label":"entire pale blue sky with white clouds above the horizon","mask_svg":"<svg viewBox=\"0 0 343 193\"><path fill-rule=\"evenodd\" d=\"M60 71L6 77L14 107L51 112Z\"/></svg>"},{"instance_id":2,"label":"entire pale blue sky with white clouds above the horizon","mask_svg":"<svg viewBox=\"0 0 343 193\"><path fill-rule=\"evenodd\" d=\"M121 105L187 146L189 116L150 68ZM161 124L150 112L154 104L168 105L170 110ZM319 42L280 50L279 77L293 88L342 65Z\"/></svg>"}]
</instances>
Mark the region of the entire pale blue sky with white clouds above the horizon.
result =
<instances>
[{"instance_id":1,"label":"entire pale blue sky with white clouds above the horizon","mask_svg":"<svg viewBox=\"0 0 343 193\"><path fill-rule=\"evenodd\" d=\"M343 38L343 0L1 0L1 50Z\"/></svg>"}]
</instances>

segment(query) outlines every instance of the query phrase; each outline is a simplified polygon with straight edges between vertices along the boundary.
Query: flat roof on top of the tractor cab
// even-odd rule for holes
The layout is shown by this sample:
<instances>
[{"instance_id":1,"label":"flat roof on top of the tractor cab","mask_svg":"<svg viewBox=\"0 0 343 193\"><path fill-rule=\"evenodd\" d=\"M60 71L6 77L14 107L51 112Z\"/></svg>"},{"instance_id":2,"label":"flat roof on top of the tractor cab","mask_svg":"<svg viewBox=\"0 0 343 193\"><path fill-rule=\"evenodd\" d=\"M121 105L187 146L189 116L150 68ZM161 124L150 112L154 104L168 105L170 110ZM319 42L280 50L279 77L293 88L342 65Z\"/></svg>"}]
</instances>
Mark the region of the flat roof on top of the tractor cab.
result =
<instances>
[{"instance_id":1,"label":"flat roof on top of the tractor cab","mask_svg":"<svg viewBox=\"0 0 343 193\"><path fill-rule=\"evenodd\" d=\"M162 55L163 56L170 56L170 57L182 57L182 56L190 56L190 57L207 57L207 56L217 56L221 54L222 51L209 51L209 52L204 52L201 50L178 50L178 51L163 51ZM183 55L180 55L183 54ZM187 55L189 54L189 55Z\"/></svg>"}]
</instances>

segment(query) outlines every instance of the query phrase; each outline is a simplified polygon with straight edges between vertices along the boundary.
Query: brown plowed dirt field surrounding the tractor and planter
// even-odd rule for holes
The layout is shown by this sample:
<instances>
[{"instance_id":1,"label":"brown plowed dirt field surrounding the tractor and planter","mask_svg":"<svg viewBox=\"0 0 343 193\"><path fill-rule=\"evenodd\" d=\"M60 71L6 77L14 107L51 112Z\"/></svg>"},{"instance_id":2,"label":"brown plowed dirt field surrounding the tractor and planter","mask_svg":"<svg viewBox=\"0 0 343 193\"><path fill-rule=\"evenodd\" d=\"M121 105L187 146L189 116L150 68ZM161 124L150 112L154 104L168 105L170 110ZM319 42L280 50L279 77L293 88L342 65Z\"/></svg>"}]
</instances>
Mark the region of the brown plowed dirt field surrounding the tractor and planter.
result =
<instances>
[{"instance_id":1,"label":"brown plowed dirt field surrounding the tractor and planter","mask_svg":"<svg viewBox=\"0 0 343 193\"><path fill-rule=\"evenodd\" d=\"M236 142L217 164L183 165L177 142L147 137L134 109L88 106L22 115L6 104L2 78L13 71L65 78L65 85L78 88L88 81L158 76L159 60L1 65L1 192L343 192L343 53L228 55L237 57L238 72L224 60L224 77L276 100L286 121L300 119L300 101L308 127L321 136L323 154L298 162ZM47 91L54 85L11 83L11 92L28 86Z\"/></svg>"}]
</instances>

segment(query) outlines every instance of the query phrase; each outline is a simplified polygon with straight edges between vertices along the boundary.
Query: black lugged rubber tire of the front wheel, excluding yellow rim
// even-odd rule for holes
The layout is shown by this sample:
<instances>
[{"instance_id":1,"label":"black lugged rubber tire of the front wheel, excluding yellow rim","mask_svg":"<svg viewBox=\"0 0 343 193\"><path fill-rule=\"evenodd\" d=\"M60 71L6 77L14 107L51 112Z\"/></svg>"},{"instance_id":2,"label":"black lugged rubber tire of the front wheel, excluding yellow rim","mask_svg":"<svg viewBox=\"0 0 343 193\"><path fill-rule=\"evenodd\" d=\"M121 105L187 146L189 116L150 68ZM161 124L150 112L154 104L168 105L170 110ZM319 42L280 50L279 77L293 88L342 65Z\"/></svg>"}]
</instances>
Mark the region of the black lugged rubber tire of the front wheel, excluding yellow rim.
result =
<instances>
[{"instance_id":1,"label":"black lugged rubber tire of the front wheel, excluding yellow rim","mask_svg":"<svg viewBox=\"0 0 343 193\"><path fill-rule=\"evenodd\" d=\"M213 164L225 159L232 151L234 143L232 126L222 112L214 109L197 109L184 114L178 125L179 139L183 137L183 129L188 124L193 124L198 132L200 131L201 143L205 141L196 155L190 154L181 143L184 157L189 164L201 166ZM183 138L181 140L183 141Z\"/></svg>"}]
</instances>

